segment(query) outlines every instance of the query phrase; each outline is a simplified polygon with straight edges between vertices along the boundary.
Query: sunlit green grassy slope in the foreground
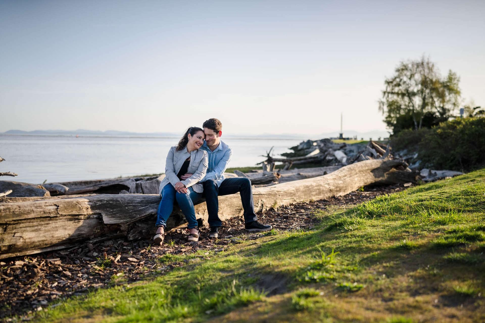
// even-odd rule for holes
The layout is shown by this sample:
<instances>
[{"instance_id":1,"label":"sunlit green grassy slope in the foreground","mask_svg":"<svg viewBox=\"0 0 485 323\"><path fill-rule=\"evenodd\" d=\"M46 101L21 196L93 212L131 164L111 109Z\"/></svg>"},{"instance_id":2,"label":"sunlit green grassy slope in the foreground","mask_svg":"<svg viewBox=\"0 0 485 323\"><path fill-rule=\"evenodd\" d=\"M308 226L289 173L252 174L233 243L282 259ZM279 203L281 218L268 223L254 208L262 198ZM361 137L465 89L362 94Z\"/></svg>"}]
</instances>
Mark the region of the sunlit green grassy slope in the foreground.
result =
<instances>
[{"instance_id":1,"label":"sunlit green grassy slope in the foreground","mask_svg":"<svg viewBox=\"0 0 485 323\"><path fill-rule=\"evenodd\" d=\"M485 169L316 213L161 275L65 300L45 322L483 322ZM275 233L275 232L272 232ZM334 254L332 254L334 250ZM277 286L274 295L264 295ZM247 306L244 306L247 305Z\"/></svg>"}]
</instances>

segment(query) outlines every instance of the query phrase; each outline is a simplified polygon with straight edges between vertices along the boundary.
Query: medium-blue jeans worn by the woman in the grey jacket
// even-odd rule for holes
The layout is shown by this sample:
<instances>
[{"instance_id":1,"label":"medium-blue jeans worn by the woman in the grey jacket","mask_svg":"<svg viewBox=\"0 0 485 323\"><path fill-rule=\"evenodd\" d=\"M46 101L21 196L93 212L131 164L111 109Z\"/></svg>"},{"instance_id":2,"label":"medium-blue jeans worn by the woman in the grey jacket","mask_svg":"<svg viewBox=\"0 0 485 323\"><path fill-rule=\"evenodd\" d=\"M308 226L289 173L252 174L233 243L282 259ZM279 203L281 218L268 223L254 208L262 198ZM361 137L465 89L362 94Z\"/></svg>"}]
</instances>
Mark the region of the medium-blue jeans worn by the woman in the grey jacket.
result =
<instances>
[{"instance_id":1,"label":"medium-blue jeans worn by the woman in the grey jacket","mask_svg":"<svg viewBox=\"0 0 485 323\"><path fill-rule=\"evenodd\" d=\"M156 227L164 226L166 228L167 219L172 214L175 200L177 200L180 210L182 210L187 222L189 222L189 229L198 227L197 219L195 218L194 203L200 200L202 193L195 192L192 187L187 189L186 194L178 193L175 187L168 183L163 186L160 195L162 196L162 200L158 206Z\"/></svg>"}]
</instances>

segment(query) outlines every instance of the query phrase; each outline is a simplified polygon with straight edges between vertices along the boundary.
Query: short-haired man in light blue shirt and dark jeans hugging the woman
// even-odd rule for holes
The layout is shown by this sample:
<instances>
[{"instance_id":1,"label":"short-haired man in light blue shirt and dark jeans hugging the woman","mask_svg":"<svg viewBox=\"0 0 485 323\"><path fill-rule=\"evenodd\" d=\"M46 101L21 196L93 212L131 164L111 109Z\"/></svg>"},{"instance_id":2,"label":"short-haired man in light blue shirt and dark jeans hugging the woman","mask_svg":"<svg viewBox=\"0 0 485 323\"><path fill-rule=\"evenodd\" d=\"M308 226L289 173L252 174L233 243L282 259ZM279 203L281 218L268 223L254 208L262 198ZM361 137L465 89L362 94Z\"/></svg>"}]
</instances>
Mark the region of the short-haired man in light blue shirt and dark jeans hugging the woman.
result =
<instances>
[{"instance_id":1,"label":"short-haired man in light blue shirt and dark jeans hugging the woman","mask_svg":"<svg viewBox=\"0 0 485 323\"><path fill-rule=\"evenodd\" d=\"M247 231L268 231L272 227L258 222L254 213L253 190L248 178L224 178L224 171L231 160L232 149L221 141L222 123L215 118L209 119L202 125L206 140L200 149L209 154L209 168L206 176L200 181L204 185L207 211L209 213L209 238L219 236L222 221L219 218L218 196L241 193L242 208L244 209L244 229ZM182 180L192 174L185 174Z\"/></svg>"}]
</instances>

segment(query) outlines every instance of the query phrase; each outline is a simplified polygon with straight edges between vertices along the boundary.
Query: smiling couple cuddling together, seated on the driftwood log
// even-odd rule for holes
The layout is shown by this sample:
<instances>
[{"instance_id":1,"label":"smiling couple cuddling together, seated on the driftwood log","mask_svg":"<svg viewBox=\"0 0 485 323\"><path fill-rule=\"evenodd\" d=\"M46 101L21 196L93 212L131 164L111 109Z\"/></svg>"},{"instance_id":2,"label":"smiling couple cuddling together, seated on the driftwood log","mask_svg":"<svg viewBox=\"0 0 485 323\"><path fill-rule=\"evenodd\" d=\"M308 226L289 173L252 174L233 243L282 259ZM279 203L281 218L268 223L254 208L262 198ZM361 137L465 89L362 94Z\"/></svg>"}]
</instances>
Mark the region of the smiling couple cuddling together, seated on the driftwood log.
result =
<instances>
[{"instance_id":1,"label":"smiling couple cuddling together, seated on the driftwood log","mask_svg":"<svg viewBox=\"0 0 485 323\"><path fill-rule=\"evenodd\" d=\"M271 230L270 225L258 222L254 213L253 192L248 178L224 178L231 160L232 149L221 141L222 123L209 119L203 129L190 127L177 146L170 148L165 163L165 178L160 183L162 200L157 211L156 235L153 242L162 244L167 219L174 201L189 222L188 241L198 241L200 230L195 218L194 203L205 197L209 213L209 237L217 238L222 221L219 219L218 196L241 193L244 227L247 231Z\"/></svg>"}]
</instances>

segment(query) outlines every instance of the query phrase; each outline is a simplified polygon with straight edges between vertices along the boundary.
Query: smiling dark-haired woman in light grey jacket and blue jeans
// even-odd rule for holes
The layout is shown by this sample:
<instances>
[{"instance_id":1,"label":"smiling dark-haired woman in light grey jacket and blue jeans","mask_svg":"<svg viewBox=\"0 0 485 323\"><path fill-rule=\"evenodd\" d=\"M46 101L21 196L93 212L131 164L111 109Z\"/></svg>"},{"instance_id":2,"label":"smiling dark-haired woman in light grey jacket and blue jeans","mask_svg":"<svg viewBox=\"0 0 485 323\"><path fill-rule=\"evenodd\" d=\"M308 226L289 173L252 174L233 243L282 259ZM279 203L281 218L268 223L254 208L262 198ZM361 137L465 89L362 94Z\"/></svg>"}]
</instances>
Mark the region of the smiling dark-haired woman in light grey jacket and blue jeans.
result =
<instances>
[{"instance_id":1,"label":"smiling dark-haired woman in light grey jacket and blue jeans","mask_svg":"<svg viewBox=\"0 0 485 323\"><path fill-rule=\"evenodd\" d=\"M189 241L198 241L200 230L195 218L194 203L202 196L203 186L198 183L207 172L209 159L207 152L199 148L204 143L204 131L198 127L187 129L177 146L170 148L165 163L165 178L160 183L162 200L157 211L157 233L153 237L156 245L161 245L165 235L167 219L174 208L174 201L189 222ZM193 174L182 181L180 176Z\"/></svg>"}]
</instances>

